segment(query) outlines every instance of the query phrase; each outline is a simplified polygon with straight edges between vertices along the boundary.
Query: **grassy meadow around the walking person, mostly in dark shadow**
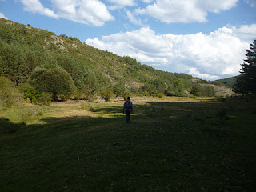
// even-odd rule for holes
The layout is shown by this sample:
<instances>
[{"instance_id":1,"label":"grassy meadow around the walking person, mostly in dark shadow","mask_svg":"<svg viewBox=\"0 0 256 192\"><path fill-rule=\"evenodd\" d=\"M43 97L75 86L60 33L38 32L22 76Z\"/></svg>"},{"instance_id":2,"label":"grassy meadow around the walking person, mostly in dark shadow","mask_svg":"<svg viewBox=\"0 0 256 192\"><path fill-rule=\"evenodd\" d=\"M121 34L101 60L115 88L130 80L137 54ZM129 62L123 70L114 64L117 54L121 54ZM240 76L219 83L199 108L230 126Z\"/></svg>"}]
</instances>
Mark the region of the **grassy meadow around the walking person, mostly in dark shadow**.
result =
<instances>
[{"instance_id":1,"label":"grassy meadow around the walking person, mostly in dark shadow","mask_svg":"<svg viewBox=\"0 0 256 192\"><path fill-rule=\"evenodd\" d=\"M0 191L253 191L254 100L122 104L0 108Z\"/></svg>"}]
</instances>

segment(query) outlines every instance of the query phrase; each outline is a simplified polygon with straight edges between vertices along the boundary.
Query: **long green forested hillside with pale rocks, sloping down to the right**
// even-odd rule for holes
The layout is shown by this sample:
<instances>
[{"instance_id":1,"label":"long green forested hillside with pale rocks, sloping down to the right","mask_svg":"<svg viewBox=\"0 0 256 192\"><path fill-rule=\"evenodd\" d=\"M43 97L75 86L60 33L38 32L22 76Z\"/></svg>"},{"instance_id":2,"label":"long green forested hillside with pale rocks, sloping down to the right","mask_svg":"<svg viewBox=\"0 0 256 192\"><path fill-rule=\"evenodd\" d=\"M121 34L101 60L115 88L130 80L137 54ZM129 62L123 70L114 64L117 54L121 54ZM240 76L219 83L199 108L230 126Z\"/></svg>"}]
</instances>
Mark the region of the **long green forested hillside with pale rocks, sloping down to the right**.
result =
<instances>
[{"instance_id":1,"label":"long green forested hillside with pale rocks, sloping down to the right","mask_svg":"<svg viewBox=\"0 0 256 192\"><path fill-rule=\"evenodd\" d=\"M82 43L65 34L55 35L30 25L0 18L0 76L16 86L26 83L53 94L123 94L213 96L187 74L172 74L142 65ZM54 84L69 90L54 90ZM50 85L51 87L48 87ZM73 86L72 89L70 88ZM68 87L68 88L67 88Z\"/></svg>"}]
</instances>

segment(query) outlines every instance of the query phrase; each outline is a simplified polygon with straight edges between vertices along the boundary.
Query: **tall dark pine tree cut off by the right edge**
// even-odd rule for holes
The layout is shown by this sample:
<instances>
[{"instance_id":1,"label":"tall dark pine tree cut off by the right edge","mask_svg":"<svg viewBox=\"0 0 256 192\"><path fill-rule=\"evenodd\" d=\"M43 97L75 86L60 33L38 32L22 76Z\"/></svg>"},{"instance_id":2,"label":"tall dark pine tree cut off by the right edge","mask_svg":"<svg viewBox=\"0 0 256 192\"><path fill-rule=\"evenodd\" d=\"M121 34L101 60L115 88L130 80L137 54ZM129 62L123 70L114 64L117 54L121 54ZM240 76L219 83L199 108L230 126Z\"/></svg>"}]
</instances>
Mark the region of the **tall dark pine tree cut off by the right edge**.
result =
<instances>
[{"instance_id":1,"label":"tall dark pine tree cut off by the right edge","mask_svg":"<svg viewBox=\"0 0 256 192\"><path fill-rule=\"evenodd\" d=\"M241 64L241 75L237 78L234 90L241 94L256 94L256 40L246 52L247 58Z\"/></svg>"}]
</instances>

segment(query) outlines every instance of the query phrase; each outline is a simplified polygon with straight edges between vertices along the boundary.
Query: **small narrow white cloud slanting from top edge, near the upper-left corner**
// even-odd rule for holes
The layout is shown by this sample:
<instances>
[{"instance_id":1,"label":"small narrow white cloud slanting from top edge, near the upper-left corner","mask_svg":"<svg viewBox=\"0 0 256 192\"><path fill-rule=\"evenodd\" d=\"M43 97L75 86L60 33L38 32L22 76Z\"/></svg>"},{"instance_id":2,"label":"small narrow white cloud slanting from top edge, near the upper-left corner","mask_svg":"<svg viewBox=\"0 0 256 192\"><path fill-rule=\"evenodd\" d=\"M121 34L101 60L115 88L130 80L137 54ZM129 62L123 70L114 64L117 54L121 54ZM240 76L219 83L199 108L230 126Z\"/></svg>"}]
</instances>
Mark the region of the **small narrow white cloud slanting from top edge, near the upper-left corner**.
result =
<instances>
[{"instance_id":1,"label":"small narrow white cloud slanting from top edge, near the upper-left corner","mask_svg":"<svg viewBox=\"0 0 256 192\"><path fill-rule=\"evenodd\" d=\"M24 10L46 15L51 18L59 18L58 14L55 14L53 10L45 8L39 0L21 0Z\"/></svg>"}]
</instances>

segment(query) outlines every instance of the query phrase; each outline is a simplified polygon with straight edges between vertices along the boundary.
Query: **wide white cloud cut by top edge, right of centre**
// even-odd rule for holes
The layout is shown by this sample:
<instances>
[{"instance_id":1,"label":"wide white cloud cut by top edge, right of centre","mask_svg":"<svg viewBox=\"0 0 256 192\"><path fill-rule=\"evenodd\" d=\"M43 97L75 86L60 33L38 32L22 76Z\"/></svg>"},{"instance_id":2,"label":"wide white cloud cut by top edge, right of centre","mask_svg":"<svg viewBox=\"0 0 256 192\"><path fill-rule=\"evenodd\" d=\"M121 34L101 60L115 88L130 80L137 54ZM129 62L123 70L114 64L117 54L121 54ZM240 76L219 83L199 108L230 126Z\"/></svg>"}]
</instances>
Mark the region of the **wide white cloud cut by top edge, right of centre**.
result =
<instances>
[{"instance_id":1,"label":"wide white cloud cut by top edge, right of centre","mask_svg":"<svg viewBox=\"0 0 256 192\"><path fill-rule=\"evenodd\" d=\"M147 14L161 22L206 22L208 12L230 10L238 0L156 0L136 14Z\"/></svg>"}]
</instances>

